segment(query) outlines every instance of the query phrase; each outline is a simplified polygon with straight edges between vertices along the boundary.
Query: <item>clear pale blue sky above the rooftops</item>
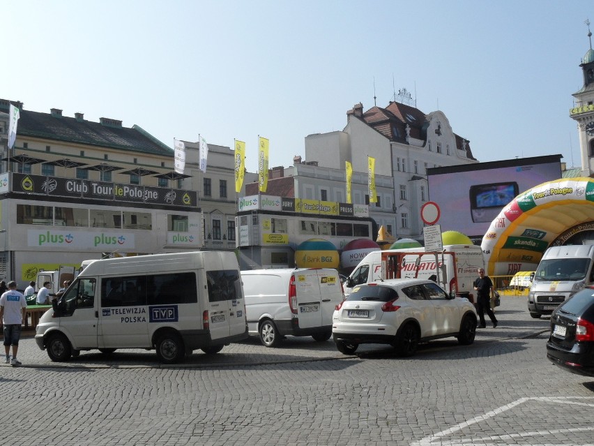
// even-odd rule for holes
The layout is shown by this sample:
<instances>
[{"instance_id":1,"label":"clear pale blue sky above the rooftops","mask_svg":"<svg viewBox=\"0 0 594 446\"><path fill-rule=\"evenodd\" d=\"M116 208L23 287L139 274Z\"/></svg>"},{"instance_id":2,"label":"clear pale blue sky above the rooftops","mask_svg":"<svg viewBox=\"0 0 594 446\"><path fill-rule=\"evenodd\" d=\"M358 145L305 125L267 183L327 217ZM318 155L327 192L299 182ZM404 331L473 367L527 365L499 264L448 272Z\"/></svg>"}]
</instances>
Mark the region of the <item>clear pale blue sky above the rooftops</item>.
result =
<instances>
[{"instance_id":1,"label":"clear pale blue sky above the rooftops","mask_svg":"<svg viewBox=\"0 0 594 446\"><path fill-rule=\"evenodd\" d=\"M0 17L1 98L121 119L172 148L243 140L251 172L258 135L269 166L289 166L305 136L402 88L479 161L580 165L569 110L592 0L3 0Z\"/></svg>"}]
</instances>

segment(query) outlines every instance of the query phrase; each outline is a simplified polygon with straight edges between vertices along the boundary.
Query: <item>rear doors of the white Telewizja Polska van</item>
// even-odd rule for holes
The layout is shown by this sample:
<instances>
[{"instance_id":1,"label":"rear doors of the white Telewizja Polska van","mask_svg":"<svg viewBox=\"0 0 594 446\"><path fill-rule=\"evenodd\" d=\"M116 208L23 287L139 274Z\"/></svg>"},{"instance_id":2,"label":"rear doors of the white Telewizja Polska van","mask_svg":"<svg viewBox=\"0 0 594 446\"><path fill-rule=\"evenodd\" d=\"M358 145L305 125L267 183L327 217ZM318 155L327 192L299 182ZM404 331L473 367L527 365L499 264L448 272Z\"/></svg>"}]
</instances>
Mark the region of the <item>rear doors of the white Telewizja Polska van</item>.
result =
<instances>
[{"instance_id":1,"label":"rear doors of the white Telewizja Polska van","mask_svg":"<svg viewBox=\"0 0 594 446\"><path fill-rule=\"evenodd\" d=\"M222 258L222 255L227 254L204 253L208 290L208 299L205 299L205 304L213 340L245 333L245 303L241 276L236 260L229 261L229 256Z\"/></svg>"}]
</instances>

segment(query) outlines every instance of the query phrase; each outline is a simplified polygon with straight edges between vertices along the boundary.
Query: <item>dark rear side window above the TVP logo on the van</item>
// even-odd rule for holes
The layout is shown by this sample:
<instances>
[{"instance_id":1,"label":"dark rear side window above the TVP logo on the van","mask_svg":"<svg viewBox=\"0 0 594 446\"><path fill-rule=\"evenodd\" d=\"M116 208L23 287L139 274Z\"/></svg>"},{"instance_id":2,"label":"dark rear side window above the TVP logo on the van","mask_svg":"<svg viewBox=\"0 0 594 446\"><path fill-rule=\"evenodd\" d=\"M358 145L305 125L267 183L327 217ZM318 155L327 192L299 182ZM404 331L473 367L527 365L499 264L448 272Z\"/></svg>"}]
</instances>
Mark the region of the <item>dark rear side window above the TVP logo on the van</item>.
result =
<instances>
[{"instance_id":1,"label":"dark rear side window above the TVP logo on the van","mask_svg":"<svg viewBox=\"0 0 594 446\"><path fill-rule=\"evenodd\" d=\"M196 274L151 274L146 276L148 305L195 304L198 302Z\"/></svg>"}]
</instances>

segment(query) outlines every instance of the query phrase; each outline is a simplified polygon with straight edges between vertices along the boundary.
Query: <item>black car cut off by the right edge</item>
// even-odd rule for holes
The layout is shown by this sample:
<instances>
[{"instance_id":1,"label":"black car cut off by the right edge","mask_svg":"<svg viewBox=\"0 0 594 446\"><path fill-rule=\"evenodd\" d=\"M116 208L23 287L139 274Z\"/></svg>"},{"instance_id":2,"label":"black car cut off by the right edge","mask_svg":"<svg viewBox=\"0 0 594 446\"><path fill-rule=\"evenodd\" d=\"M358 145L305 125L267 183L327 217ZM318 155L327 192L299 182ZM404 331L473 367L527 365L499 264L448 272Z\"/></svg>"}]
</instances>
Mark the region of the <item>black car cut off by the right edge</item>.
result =
<instances>
[{"instance_id":1,"label":"black car cut off by the right edge","mask_svg":"<svg viewBox=\"0 0 594 446\"><path fill-rule=\"evenodd\" d=\"M594 286L553 311L547 357L572 373L594 376Z\"/></svg>"}]
</instances>

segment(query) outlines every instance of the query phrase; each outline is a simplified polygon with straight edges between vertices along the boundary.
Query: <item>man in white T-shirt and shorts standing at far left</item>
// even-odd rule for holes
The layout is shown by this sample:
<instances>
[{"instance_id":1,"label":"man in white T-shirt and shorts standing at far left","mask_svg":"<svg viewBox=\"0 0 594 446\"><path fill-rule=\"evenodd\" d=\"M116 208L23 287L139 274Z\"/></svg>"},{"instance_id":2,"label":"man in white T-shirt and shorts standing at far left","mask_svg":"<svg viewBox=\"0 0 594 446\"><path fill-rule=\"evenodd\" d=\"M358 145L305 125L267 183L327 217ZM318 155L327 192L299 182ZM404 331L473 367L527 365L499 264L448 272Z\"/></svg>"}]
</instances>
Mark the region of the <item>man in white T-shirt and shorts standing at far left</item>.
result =
<instances>
[{"instance_id":1,"label":"man in white T-shirt and shorts standing at far left","mask_svg":"<svg viewBox=\"0 0 594 446\"><path fill-rule=\"evenodd\" d=\"M21 337L21 326L26 318L26 300L22 293L17 291L15 281L8 282L8 291L0 297L0 321L3 325L4 352L6 353L6 364L20 366L17 359L19 351L19 339ZM13 346L13 359L10 360L10 345Z\"/></svg>"}]
</instances>

